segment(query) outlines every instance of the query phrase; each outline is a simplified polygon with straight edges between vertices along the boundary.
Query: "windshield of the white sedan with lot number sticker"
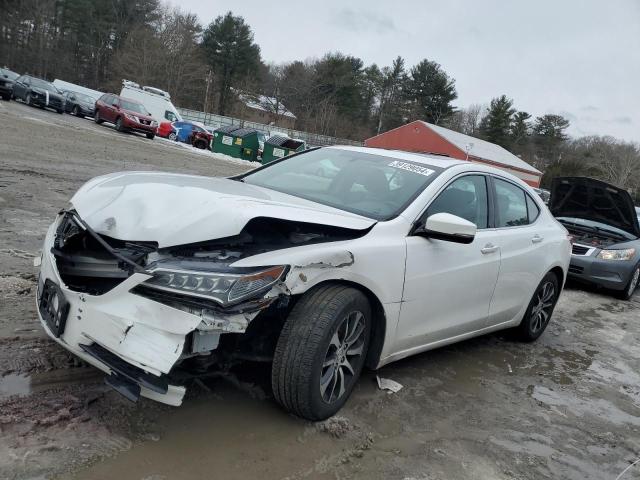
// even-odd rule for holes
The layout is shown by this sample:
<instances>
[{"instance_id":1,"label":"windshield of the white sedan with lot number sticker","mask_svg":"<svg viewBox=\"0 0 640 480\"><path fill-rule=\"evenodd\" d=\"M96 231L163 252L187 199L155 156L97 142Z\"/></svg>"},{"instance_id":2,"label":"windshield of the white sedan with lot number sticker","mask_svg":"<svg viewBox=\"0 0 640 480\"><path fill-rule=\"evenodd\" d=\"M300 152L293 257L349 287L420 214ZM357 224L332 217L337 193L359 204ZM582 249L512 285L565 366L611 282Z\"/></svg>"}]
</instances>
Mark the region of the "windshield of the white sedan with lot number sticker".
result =
<instances>
[{"instance_id":1,"label":"windshield of the white sedan with lot number sticker","mask_svg":"<svg viewBox=\"0 0 640 480\"><path fill-rule=\"evenodd\" d=\"M402 212L442 168L321 148L249 173L242 181L376 220Z\"/></svg>"}]
</instances>

